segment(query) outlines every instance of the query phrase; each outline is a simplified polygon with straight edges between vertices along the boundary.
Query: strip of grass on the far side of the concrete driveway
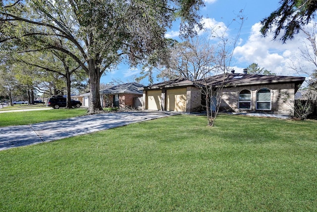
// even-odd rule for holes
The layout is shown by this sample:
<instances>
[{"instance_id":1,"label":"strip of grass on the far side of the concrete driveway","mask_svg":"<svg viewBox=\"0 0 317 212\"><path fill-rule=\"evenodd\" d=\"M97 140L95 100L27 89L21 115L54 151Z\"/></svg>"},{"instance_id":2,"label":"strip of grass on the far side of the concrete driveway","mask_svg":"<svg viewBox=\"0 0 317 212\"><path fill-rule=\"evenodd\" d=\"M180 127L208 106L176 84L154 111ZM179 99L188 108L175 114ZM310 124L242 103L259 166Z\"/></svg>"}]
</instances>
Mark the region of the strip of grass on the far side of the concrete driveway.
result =
<instances>
[{"instance_id":1,"label":"strip of grass on the far side of the concrete driveway","mask_svg":"<svg viewBox=\"0 0 317 212\"><path fill-rule=\"evenodd\" d=\"M0 113L0 127L29 125L87 114L87 108Z\"/></svg>"}]
</instances>

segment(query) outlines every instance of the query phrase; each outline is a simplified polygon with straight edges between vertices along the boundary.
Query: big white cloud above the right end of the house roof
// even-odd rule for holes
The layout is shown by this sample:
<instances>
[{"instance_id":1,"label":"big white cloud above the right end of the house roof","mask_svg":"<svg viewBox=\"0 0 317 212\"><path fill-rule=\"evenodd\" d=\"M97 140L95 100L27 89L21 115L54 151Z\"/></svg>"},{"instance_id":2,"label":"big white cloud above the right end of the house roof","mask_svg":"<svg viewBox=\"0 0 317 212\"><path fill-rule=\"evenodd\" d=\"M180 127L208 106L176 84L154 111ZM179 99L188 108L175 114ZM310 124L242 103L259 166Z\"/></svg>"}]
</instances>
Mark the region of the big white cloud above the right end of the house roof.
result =
<instances>
[{"instance_id":1,"label":"big white cloud above the right end of the house roof","mask_svg":"<svg viewBox=\"0 0 317 212\"><path fill-rule=\"evenodd\" d=\"M301 49L305 46L303 44L305 39L301 34L283 44L279 40L273 41L272 34L263 37L260 28L260 23L254 24L248 40L235 48L233 56L238 64L256 63L278 75L298 75L294 69L311 66L300 59ZM301 75L304 74L301 73Z\"/></svg>"}]
</instances>

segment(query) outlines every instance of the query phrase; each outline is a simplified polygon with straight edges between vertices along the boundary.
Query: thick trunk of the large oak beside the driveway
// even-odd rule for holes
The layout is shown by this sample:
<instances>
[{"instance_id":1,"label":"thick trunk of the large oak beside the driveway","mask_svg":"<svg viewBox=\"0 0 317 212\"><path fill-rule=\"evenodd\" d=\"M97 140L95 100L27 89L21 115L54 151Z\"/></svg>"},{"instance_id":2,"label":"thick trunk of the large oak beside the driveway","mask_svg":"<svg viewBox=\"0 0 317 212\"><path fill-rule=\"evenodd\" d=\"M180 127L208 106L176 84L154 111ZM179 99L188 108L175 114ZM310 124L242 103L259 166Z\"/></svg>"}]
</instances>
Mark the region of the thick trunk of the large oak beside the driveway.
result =
<instances>
[{"instance_id":1,"label":"thick trunk of the large oak beside the driveway","mask_svg":"<svg viewBox=\"0 0 317 212\"><path fill-rule=\"evenodd\" d=\"M100 102L100 78L102 73L100 69L96 66L95 60L89 60L89 82L90 82L90 104L89 104L89 114L103 113L104 109L101 107Z\"/></svg>"}]
</instances>

